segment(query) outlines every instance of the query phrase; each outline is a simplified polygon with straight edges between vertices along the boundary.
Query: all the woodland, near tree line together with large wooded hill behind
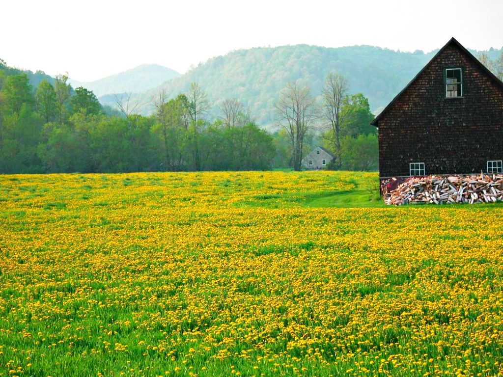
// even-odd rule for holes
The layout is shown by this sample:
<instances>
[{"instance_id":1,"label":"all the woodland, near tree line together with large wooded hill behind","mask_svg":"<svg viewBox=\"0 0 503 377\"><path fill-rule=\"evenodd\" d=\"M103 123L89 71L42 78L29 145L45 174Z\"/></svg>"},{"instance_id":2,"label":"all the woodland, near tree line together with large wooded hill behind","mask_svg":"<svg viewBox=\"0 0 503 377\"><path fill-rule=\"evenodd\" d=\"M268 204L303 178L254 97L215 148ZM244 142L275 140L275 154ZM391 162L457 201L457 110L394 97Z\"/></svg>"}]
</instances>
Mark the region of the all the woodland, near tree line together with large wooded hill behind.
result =
<instances>
[{"instance_id":1,"label":"all the woodland, near tree line together with large wooded hill behind","mask_svg":"<svg viewBox=\"0 0 503 377\"><path fill-rule=\"evenodd\" d=\"M314 58L304 54L306 48ZM358 51L376 58L378 70L365 80L374 91L381 86L389 91L406 76L391 80L384 75L389 85L375 81L383 64L404 63L400 71L411 74L429 55L370 46L240 50L212 58L142 96L109 96L113 107L102 105L92 90L73 88L67 73L50 77L0 59L0 173L299 170L302 157L318 145L336 156L329 168L377 170L370 100L355 90L363 76L348 68ZM264 54L271 55L270 64L260 73L268 61ZM319 59L328 59L327 54L339 58L322 64ZM303 56L311 56L305 58L310 63ZM477 58L503 78L503 52L482 52ZM273 61L288 65L293 75L275 70ZM320 78L326 67L342 62L349 75L341 73L342 67ZM186 83L189 78L194 80ZM222 79L227 84L218 86ZM144 113L147 97L150 110Z\"/></svg>"}]
</instances>

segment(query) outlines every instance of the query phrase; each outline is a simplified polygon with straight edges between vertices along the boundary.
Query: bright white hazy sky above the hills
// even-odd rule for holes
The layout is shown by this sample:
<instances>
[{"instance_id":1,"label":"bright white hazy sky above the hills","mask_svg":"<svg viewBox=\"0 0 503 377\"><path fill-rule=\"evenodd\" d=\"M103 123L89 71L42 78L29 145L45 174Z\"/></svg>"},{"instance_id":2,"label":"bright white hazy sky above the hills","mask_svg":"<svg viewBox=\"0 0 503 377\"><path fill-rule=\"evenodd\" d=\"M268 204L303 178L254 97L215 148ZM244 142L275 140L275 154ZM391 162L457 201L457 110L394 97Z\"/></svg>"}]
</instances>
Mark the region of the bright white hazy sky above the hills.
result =
<instances>
[{"instance_id":1,"label":"bright white hazy sky above the hills","mask_svg":"<svg viewBox=\"0 0 503 377\"><path fill-rule=\"evenodd\" d=\"M9 66L93 81L141 64L186 72L252 47L371 45L430 52L451 37L503 46L503 0L0 0Z\"/></svg>"}]
</instances>

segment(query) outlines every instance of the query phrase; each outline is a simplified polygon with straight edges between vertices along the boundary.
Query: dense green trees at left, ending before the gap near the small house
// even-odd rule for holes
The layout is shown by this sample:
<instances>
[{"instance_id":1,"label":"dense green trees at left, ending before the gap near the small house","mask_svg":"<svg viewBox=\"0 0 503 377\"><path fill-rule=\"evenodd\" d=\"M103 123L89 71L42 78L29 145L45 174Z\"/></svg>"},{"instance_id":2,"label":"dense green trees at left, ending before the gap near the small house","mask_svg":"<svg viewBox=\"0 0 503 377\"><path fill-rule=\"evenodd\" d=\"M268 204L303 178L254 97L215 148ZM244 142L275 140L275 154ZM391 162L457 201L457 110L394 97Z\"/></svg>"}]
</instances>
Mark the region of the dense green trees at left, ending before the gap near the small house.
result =
<instances>
[{"instance_id":1,"label":"dense green trees at left, ending before the gap near the small house","mask_svg":"<svg viewBox=\"0 0 503 377\"><path fill-rule=\"evenodd\" d=\"M0 173L271 168L272 136L237 101L232 114L207 121L206 93L196 83L169 101L161 93L145 117L128 96L117 98L118 113L106 114L92 91L67 79L60 74L34 89L25 73L0 69Z\"/></svg>"}]
</instances>

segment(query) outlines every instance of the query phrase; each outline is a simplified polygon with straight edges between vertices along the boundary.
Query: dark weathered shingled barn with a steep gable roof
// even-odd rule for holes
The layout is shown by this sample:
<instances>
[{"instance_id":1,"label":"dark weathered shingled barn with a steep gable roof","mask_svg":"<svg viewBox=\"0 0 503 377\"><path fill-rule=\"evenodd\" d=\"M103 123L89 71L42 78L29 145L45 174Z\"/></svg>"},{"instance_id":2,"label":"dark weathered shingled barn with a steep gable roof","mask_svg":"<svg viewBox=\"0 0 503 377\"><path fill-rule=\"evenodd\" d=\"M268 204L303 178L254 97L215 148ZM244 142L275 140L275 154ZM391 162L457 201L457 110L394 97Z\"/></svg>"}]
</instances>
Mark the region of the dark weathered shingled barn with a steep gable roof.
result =
<instances>
[{"instance_id":1,"label":"dark weathered shingled barn with a steep gable roof","mask_svg":"<svg viewBox=\"0 0 503 377\"><path fill-rule=\"evenodd\" d=\"M371 124L381 182L503 172L503 82L454 38Z\"/></svg>"}]
</instances>

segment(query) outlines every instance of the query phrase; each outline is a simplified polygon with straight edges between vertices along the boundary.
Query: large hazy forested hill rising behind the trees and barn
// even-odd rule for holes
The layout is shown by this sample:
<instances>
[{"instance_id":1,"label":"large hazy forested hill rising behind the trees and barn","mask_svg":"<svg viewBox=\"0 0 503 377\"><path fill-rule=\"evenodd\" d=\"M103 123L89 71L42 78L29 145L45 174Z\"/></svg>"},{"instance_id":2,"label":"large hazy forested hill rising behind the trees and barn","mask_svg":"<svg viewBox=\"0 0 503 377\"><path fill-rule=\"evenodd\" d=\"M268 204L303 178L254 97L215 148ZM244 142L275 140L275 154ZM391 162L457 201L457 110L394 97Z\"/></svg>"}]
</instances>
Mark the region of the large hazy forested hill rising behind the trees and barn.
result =
<instances>
[{"instance_id":1,"label":"large hazy forested hill rising behind the trees and barn","mask_svg":"<svg viewBox=\"0 0 503 377\"><path fill-rule=\"evenodd\" d=\"M438 50L437 50L438 51ZM318 96L329 72L346 76L353 93L369 99L371 110L382 110L423 68L437 51L399 52L372 46L326 48L309 45L261 47L232 51L199 64L162 86L171 97L186 92L197 82L208 93L214 112L224 99L237 99L249 106L261 125L274 121L274 103L288 81L302 79ZM476 54L476 52L473 52ZM489 52L496 58L499 51ZM137 96L142 113L149 114L151 98L160 87ZM114 105L114 96L101 98Z\"/></svg>"}]
</instances>

